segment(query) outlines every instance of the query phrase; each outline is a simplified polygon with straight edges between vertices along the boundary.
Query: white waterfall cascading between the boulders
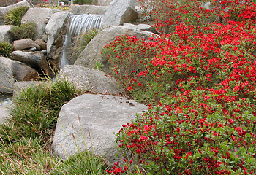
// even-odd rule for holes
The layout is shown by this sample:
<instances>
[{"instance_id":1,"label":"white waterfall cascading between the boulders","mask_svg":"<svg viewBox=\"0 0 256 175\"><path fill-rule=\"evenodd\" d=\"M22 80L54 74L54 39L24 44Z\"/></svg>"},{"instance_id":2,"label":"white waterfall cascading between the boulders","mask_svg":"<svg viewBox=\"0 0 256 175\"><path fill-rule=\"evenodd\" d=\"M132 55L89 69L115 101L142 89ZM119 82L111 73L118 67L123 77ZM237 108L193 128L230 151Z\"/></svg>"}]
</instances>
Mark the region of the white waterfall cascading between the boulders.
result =
<instances>
[{"instance_id":1,"label":"white waterfall cascading between the boulders","mask_svg":"<svg viewBox=\"0 0 256 175\"><path fill-rule=\"evenodd\" d=\"M65 41L63 44L63 52L61 55L61 66L62 69L66 64L69 64L67 58L67 50L71 43L71 39L82 34L85 31L90 29L98 29L102 22L103 15L93 15L93 14L84 14L84 15L71 15L67 27L67 33L65 36Z\"/></svg>"}]
</instances>

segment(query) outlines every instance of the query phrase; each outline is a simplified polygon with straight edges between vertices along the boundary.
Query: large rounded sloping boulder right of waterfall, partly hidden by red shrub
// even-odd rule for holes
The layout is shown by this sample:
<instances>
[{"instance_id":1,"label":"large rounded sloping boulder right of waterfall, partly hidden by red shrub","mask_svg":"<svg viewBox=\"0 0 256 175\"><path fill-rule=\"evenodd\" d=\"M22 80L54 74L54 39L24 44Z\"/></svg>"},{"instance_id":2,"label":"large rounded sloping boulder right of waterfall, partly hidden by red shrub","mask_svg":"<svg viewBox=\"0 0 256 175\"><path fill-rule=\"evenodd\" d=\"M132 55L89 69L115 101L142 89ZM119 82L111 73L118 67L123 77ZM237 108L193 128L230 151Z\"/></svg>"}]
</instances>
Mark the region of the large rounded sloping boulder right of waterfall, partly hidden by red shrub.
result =
<instances>
[{"instance_id":1,"label":"large rounded sloping boulder right of waterfall, partly hidden by red shrub","mask_svg":"<svg viewBox=\"0 0 256 175\"><path fill-rule=\"evenodd\" d=\"M101 52L103 47L116 39L116 36L136 36L137 38L148 39L153 36L153 33L148 31L140 31L136 28L127 28L125 26L113 26L111 28L105 28L100 31L94 39L86 46L86 48L81 52L75 65L85 66L88 68L94 68L97 62L102 61L105 65L102 67L102 71L109 72L108 63L105 58L102 58Z\"/></svg>"}]
</instances>

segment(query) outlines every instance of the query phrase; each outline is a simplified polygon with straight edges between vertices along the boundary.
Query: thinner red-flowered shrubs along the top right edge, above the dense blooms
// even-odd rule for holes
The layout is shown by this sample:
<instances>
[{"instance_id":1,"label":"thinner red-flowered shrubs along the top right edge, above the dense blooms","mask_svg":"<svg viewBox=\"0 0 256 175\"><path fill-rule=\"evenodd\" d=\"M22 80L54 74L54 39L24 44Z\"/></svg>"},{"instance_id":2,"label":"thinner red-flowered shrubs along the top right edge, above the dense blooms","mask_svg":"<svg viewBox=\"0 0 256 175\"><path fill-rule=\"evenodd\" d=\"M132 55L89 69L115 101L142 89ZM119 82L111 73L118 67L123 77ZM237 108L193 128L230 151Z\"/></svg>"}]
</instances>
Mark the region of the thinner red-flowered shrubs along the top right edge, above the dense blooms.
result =
<instances>
[{"instance_id":1,"label":"thinner red-flowered shrubs along the top right edge, above the dense blooms","mask_svg":"<svg viewBox=\"0 0 256 175\"><path fill-rule=\"evenodd\" d=\"M256 20L256 4L250 0L140 0L140 2L143 4L143 12L146 12L143 15L155 20L154 27L162 34L170 34L180 23L208 26L208 23L227 23L228 20ZM208 9L204 8L207 6Z\"/></svg>"}]
</instances>

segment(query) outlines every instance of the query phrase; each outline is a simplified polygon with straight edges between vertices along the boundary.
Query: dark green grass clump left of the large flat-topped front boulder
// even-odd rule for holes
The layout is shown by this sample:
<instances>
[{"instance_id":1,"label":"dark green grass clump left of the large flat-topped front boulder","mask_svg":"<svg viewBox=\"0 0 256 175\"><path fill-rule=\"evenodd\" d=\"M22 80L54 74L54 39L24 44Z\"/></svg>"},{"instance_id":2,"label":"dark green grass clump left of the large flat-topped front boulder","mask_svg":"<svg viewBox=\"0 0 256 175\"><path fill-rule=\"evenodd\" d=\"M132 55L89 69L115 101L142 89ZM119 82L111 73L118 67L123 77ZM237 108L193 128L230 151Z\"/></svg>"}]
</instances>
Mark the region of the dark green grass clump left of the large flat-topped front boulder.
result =
<instances>
[{"instance_id":1,"label":"dark green grass clump left of the large flat-topped front boulder","mask_svg":"<svg viewBox=\"0 0 256 175\"><path fill-rule=\"evenodd\" d=\"M75 86L61 79L21 90L12 102L11 119L5 125L0 125L1 141L12 143L22 137L50 137L61 106L76 94Z\"/></svg>"}]
</instances>

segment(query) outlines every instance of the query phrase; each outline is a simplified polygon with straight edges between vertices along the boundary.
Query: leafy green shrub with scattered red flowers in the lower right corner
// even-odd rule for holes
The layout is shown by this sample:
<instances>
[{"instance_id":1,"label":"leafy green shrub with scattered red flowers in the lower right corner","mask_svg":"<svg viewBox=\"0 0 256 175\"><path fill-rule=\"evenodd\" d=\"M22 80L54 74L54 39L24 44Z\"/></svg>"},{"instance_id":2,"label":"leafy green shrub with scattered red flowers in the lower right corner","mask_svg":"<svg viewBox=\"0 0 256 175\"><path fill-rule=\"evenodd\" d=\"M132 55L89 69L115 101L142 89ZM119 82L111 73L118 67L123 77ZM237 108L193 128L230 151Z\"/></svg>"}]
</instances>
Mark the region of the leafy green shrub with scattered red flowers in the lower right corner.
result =
<instances>
[{"instance_id":1,"label":"leafy green shrub with scattered red flowers in the lower right corner","mask_svg":"<svg viewBox=\"0 0 256 175\"><path fill-rule=\"evenodd\" d=\"M120 147L151 174L255 174L255 105L230 96L213 88L177 93L123 125Z\"/></svg>"}]
</instances>

